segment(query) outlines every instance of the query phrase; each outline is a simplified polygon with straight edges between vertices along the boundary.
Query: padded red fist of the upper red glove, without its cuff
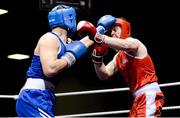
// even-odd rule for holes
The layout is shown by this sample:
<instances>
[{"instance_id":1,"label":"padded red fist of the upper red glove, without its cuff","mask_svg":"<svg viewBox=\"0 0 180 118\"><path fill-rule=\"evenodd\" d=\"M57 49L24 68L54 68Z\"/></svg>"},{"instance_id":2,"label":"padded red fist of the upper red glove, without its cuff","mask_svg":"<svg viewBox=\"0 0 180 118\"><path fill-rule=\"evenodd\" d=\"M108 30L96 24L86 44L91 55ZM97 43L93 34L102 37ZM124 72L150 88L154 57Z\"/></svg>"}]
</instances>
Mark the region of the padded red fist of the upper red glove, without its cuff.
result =
<instances>
[{"instance_id":1,"label":"padded red fist of the upper red glove, without its cuff","mask_svg":"<svg viewBox=\"0 0 180 118\"><path fill-rule=\"evenodd\" d=\"M77 32L80 36L88 35L91 40L94 40L97 30L92 23L80 21L77 25Z\"/></svg>"}]
</instances>

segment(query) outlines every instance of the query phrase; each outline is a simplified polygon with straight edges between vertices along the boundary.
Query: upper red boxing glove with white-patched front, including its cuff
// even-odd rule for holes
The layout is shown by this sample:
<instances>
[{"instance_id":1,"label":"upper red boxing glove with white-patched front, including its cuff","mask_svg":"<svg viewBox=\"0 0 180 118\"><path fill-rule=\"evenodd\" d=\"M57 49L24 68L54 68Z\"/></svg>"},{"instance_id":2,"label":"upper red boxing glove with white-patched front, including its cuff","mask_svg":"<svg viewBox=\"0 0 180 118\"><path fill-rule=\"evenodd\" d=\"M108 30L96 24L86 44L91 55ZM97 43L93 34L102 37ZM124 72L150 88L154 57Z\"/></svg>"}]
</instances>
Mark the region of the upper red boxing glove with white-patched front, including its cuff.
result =
<instances>
[{"instance_id":1,"label":"upper red boxing glove with white-patched front, including its cuff","mask_svg":"<svg viewBox=\"0 0 180 118\"><path fill-rule=\"evenodd\" d=\"M88 35L91 40L98 44L104 43L104 35L100 34L96 27L88 21L80 21L77 25L77 32L80 36Z\"/></svg>"}]
</instances>

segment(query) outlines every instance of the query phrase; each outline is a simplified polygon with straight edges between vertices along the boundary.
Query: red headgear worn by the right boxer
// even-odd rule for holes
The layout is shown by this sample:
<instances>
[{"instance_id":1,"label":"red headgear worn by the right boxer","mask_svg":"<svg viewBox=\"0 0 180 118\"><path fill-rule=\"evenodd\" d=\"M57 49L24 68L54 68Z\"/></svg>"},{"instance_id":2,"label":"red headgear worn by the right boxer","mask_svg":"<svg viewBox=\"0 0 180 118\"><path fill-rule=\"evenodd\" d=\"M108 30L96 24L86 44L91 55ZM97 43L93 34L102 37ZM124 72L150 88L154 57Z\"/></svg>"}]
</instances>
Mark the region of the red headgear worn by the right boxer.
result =
<instances>
[{"instance_id":1,"label":"red headgear worn by the right boxer","mask_svg":"<svg viewBox=\"0 0 180 118\"><path fill-rule=\"evenodd\" d=\"M122 32L120 38L126 39L131 36L131 26L129 22L121 18L116 18L115 25L121 26Z\"/></svg>"}]
</instances>

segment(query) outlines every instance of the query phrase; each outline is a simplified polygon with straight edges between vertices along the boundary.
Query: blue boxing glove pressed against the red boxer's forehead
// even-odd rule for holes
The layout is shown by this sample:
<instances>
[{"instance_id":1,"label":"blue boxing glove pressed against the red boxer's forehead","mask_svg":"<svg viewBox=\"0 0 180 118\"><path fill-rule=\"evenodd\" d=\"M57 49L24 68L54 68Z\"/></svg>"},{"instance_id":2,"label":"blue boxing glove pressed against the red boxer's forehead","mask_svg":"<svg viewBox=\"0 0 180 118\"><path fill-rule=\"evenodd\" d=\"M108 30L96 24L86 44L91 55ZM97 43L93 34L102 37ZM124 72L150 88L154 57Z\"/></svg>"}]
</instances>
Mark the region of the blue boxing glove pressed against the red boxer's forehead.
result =
<instances>
[{"instance_id":1,"label":"blue boxing glove pressed against the red boxer's forehead","mask_svg":"<svg viewBox=\"0 0 180 118\"><path fill-rule=\"evenodd\" d=\"M116 18L112 15L104 15L102 16L97 23L97 31L104 34L106 30L111 29L111 27L115 24Z\"/></svg>"}]
</instances>

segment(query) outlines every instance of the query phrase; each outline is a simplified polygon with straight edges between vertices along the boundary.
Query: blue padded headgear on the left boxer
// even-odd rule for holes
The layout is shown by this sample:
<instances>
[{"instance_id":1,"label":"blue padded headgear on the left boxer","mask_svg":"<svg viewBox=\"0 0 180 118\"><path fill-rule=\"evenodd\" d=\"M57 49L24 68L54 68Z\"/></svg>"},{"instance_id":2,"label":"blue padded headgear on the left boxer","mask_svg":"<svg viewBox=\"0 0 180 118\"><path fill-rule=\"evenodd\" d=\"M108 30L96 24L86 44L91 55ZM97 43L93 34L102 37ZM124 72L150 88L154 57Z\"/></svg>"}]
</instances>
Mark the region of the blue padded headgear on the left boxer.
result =
<instances>
[{"instance_id":1,"label":"blue padded headgear on the left boxer","mask_svg":"<svg viewBox=\"0 0 180 118\"><path fill-rule=\"evenodd\" d=\"M72 35L76 31L76 11L73 7L58 5L48 14L49 26L51 29L60 26Z\"/></svg>"}]
</instances>

